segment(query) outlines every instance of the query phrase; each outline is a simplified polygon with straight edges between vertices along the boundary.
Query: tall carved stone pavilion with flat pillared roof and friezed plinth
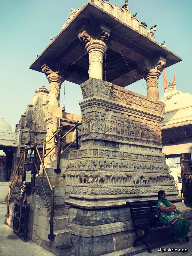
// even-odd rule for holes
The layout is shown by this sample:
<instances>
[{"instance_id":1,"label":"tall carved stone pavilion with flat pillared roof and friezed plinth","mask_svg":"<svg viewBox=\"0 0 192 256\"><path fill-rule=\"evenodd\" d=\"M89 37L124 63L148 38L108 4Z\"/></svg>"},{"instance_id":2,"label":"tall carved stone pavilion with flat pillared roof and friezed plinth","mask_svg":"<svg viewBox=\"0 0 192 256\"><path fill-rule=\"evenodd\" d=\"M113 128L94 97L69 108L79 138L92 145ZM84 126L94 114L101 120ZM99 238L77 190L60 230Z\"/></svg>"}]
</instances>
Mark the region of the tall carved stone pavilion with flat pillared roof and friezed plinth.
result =
<instances>
[{"instance_id":1,"label":"tall carved stone pavilion with flat pillared roof and friezed plinth","mask_svg":"<svg viewBox=\"0 0 192 256\"><path fill-rule=\"evenodd\" d=\"M127 201L157 200L158 191L165 190L168 200L191 218L169 174L160 130L164 103L158 78L181 58L156 42L156 29L147 31L128 5L90 0L71 10L30 69L45 73L49 81L49 99L42 107L46 140L67 122L59 107L61 84L67 80L81 86L81 146L61 157L60 173L54 172L55 152L45 161L60 206L55 239L48 239L50 217L38 183L27 198L28 236L56 255L97 256L132 246ZM124 88L142 78L147 97Z\"/></svg>"}]
</instances>

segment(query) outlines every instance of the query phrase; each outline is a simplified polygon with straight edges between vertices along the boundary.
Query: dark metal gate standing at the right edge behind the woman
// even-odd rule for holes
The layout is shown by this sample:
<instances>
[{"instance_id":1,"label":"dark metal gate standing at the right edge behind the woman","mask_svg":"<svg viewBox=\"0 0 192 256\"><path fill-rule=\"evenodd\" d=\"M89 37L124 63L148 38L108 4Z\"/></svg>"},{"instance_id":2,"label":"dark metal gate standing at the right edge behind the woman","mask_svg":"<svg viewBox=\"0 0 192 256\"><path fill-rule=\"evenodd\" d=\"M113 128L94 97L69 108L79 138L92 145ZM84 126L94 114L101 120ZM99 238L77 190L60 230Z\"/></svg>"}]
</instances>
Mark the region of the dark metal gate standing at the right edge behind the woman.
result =
<instances>
[{"instance_id":1,"label":"dark metal gate standing at the right edge behind the woman","mask_svg":"<svg viewBox=\"0 0 192 256\"><path fill-rule=\"evenodd\" d=\"M192 165L191 154L182 153L180 156L181 177L184 203L188 207L192 207Z\"/></svg>"}]
</instances>

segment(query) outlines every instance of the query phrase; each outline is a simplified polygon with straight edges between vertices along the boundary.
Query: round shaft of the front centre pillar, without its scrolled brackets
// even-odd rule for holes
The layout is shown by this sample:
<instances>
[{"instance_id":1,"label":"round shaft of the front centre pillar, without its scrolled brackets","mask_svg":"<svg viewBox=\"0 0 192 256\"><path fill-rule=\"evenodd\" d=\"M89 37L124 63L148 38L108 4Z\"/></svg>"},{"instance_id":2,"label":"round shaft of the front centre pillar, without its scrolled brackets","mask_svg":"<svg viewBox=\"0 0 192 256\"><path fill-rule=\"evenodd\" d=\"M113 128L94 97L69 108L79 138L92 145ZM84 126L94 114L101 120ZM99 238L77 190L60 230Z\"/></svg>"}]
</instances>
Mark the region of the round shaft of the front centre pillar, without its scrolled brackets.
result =
<instances>
[{"instance_id":1,"label":"round shaft of the front centre pillar, without its scrolled brackets","mask_svg":"<svg viewBox=\"0 0 192 256\"><path fill-rule=\"evenodd\" d=\"M107 46L101 40L92 40L86 44L89 54L89 79L103 79L103 55Z\"/></svg>"}]
</instances>

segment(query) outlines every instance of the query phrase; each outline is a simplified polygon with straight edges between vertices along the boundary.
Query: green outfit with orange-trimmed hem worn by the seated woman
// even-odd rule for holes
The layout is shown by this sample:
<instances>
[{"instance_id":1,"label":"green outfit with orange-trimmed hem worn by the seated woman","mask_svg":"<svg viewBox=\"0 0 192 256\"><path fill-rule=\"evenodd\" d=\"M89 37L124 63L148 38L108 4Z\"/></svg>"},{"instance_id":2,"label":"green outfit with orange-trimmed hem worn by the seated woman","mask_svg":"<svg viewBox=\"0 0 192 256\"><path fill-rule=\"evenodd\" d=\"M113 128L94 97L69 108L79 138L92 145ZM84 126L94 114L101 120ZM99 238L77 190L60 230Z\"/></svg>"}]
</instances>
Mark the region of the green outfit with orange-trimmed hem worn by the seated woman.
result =
<instances>
[{"instance_id":1,"label":"green outfit with orange-trimmed hem worn by the seated woman","mask_svg":"<svg viewBox=\"0 0 192 256\"><path fill-rule=\"evenodd\" d=\"M172 224L175 237L181 237L184 240L189 232L189 221L175 212L163 212L160 209L161 206L169 207L171 203L167 199L159 198L156 203L156 213L163 224Z\"/></svg>"}]
</instances>

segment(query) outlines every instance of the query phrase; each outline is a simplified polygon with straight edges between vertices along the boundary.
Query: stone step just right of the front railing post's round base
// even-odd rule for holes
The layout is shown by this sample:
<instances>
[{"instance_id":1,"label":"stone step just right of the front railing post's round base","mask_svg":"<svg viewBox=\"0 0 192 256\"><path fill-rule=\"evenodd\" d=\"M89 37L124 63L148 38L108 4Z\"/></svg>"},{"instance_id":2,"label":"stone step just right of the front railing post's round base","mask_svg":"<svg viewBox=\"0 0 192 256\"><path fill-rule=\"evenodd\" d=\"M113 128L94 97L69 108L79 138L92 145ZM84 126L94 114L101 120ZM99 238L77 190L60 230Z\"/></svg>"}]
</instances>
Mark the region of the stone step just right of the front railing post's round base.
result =
<instances>
[{"instance_id":1,"label":"stone step just right of the front railing post's round base","mask_svg":"<svg viewBox=\"0 0 192 256\"><path fill-rule=\"evenodd\" d=\"M55 240L54 240L54 245L65 245L70 243L70 238L71 238L71 230L64 228L64 229L59 229L59 230L54 230L53 232L55 234Z\"/></svg>"}]
</instances>

